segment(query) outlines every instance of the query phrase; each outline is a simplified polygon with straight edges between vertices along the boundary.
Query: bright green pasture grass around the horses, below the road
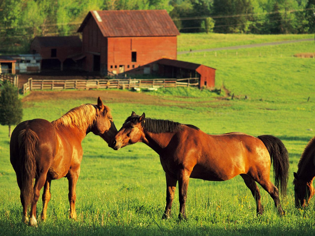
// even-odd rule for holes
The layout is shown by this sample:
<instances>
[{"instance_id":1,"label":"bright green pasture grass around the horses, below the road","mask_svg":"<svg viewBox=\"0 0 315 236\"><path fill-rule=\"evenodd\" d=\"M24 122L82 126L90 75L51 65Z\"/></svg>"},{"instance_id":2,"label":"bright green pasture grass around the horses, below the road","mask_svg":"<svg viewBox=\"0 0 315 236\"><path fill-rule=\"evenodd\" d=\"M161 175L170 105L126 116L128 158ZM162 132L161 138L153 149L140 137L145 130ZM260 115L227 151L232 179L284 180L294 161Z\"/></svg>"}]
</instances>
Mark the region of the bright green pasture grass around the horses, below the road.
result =
<instances>
[{"instance_id":1,"label":"bright green pasture grass around the horses, below the road","mask_svg":"<svg viewBox=\"0 0 315 236\"><path fill-rule=\"evenodd\" d=\"M245 37L243 42L248 40ZM300 52L315 52L314 42L178 57L216 68L216 87L224 84L235 94L233 100L218 99L226 96L224 92L217 95L194 88L150 93L151 99L165 101L160 104L121 102L111 99L111 93L103 97L112 108L118 129L134 110L145 112L146 117L193 124L209 134L238 131L281 138L290 155L288 196L281 199L285 217L277 216L271 197L262 188L264 215L256 217L254 198L238 176L225 182L191 179L188 219L177 219L176 189L172 217L162 220L165 175L158 155L143 143L114 151L90 133L82 143L77 222L68 219L68 184L63 178L52 181L47 220L39 220L38 227L31 228L20 222L22 207L9 161L8 128L0 126L0 235L314 235L314 199L306 209L295 209L292 185L301 153L315 136L315 59L292 57ZM94 92L93 98L52 96L50 100L24 102L23 120L52 121L82 103L95 103L100 92ZM120 93L128 97L131 92ZM41 210L40 198L37 216Z\"/></svg>"}]
</instances>

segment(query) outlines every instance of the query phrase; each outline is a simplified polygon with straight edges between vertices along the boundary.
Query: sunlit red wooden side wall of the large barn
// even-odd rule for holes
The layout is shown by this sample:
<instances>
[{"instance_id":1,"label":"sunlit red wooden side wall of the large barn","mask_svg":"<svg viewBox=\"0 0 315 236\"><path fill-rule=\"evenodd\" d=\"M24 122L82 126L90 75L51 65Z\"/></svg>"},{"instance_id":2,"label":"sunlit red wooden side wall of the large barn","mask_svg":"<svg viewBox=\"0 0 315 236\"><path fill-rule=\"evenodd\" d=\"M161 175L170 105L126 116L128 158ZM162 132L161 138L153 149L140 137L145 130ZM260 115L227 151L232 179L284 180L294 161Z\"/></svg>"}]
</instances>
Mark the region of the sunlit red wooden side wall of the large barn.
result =
<instances>
[{"instance_id":1,"label":"sunlit red wooden side wall of the large barn","mask_svg":"<svg viewBox=\"0 0 315 236\"><path fill-rule=\"evenodd\" d=\"M118 72L119 66L123 65L128 71L161 58L176 59L176 43L176 36L108 38L108 70ZM137 53L136 62L131 61L131 52Z\"/></svg>"}]
</instances>

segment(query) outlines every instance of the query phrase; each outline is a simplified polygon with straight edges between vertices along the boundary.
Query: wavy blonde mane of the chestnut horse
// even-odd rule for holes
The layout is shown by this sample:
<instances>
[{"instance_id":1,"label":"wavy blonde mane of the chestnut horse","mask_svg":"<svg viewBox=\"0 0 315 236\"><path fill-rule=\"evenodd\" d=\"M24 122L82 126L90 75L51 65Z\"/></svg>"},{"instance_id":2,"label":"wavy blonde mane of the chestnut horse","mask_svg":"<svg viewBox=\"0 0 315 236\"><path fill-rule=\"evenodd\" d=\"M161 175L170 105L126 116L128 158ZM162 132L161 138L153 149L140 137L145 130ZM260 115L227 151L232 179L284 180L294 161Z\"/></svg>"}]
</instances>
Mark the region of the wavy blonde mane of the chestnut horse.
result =
<instances>
[{"instance_id":1,"label":"wavy blonde mane of the chestnut horse","mask_svg":"<svg viewBox=\"0 0 315 236\"><path fill-rule=\"evenodd\" d=\"M96 105L82 104L81 106L72 108L65 115L51 123L58 128L58 126L77 127L80 130L87 129L95 122L99 110Z\"/></svg>"}]
</instances>

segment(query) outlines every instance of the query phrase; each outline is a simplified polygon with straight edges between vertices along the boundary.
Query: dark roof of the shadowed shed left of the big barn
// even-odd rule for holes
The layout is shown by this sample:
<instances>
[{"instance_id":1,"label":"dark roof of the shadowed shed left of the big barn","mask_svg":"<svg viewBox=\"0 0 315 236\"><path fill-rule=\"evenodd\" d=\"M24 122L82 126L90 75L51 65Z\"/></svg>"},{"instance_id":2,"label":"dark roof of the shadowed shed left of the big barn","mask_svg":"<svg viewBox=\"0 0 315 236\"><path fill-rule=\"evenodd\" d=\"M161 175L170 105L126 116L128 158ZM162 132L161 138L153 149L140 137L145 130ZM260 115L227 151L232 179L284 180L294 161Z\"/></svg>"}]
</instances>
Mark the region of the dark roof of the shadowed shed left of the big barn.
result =
<instances>
[{"instance_id":1,"label":"dark roof of the shadowed shed left of the big barn","mask_svg":"<svg viewBox=\"0 0 315 236\"><path fill-rule=\"evenodd\" d=\"M82 42L79 36L36 36L33 41L44 48L58 48L58 47L81 47Z\"/></svg>"}]
</instances>

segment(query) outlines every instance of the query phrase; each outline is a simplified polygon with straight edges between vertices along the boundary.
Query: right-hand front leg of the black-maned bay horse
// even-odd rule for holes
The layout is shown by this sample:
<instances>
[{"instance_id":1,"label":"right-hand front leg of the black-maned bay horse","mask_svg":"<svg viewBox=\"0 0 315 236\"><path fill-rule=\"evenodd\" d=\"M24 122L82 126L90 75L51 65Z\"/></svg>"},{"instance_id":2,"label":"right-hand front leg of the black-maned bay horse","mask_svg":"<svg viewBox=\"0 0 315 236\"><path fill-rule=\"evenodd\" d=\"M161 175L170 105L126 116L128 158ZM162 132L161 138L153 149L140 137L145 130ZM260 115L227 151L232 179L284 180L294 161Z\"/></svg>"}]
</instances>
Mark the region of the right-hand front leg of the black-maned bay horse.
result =
<instances>
[{"instance_id":1,"label":"right-hand front leg of the black-maned bay horse","mask_svg":"<svg viewBox=\"0 0 315 236\"><path fill-rule=\"evenodd\" d=\"M178 188L179 188L179 204L180 204L180 213L178 215L179 219L186 219L186 199L187 199L187 190L189 183L189 176L191 171L180 170L178 173Z\"/></svg>"}]
</instances>

